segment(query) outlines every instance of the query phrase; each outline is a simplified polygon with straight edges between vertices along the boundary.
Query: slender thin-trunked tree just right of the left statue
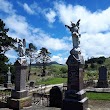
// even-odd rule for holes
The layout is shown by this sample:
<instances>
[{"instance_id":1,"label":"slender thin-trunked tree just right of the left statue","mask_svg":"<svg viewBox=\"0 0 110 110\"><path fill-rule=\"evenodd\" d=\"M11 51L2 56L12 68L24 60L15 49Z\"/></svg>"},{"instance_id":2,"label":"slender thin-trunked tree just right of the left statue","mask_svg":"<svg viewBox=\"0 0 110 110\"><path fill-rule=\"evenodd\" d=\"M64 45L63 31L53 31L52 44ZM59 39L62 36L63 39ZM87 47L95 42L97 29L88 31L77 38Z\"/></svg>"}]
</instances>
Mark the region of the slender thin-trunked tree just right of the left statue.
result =
<instances>
[{"instance_id":1,"label":"slender thin-trunked tree just right of the left statue","mask_svg":"<svg viewBox=\"0 0 110 110\"><path fill-rule=\"evenodd\" d=\"M36 50L37 48L32 43L30 43L29 47L26 49L26 55L27 57L29 57L29 60L30 60L28 80L30 79L31 64L32 64L33 58L35 58L34 54Z\"/></svg>"}]
</instances>

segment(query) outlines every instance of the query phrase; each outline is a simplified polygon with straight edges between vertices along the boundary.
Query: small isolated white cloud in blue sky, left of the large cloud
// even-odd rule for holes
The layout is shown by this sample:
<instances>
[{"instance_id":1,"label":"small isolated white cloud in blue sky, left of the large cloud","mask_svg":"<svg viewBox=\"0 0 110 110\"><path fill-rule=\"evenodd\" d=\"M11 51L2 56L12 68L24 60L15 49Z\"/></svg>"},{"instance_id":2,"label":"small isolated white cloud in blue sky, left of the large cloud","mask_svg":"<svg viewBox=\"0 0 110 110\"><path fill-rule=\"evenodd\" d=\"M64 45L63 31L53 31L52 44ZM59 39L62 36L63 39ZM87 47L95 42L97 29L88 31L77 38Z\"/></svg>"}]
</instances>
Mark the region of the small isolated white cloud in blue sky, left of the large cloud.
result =
<instances>
[{"instance_id":1,"label":"small isolated white cloud in blue sky, left of the large cloud","mask_svg":"<svg viewBox=\"0 0 110 110\"><path fill-rule=\"evenodd\" d=\"M50 9L49 12L45 13L45 16L46 16L49 23L55 22L55 16L56 16L55 11Z\"/></svg>"}]
</instances>

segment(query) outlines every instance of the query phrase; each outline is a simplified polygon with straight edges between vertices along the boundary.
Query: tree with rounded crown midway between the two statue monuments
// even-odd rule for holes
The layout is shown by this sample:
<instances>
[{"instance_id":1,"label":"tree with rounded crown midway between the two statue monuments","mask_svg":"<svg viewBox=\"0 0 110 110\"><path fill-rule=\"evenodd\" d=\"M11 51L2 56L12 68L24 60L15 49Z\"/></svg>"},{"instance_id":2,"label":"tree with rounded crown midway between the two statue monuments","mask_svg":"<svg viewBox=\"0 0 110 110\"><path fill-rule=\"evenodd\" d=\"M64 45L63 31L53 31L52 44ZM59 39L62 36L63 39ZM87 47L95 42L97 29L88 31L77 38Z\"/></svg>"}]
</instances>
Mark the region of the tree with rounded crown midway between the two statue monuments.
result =
<instances>
[{"instance_id":1,"label":"tree with rounded crown midway between the two statue monuments","mask_svg":"<svg viewBox=\"0 0 110 110\"><path fill-rule=\"evenodd\" d=\"M46 48L42 47L37 56L37 59L40 60L40 62L42 63L42 67L43 67L41 76L45 76L46 74L46 63L50 60L50 54L51 53Z\"/></svg>"}]
</instances>

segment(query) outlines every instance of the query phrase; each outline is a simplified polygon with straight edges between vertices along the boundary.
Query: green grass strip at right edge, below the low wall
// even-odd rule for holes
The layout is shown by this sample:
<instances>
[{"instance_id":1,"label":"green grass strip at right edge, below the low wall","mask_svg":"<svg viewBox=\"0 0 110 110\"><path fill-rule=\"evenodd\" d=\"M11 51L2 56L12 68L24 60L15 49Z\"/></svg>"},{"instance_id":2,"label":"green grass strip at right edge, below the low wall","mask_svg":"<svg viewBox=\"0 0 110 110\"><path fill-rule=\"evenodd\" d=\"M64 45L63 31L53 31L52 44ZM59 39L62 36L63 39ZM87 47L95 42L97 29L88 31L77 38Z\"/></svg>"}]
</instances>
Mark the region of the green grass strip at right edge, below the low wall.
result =
<instances>
[{"instance_id":1,"label":"green grass strip at right edge, below the low wall","mask_svg":"<svg viewBox=\"0 0 110 110\"><path fill-rule=\"evenodd\" d=\"M109 100L110 101L110 93L87 92L86 94L90 100Z\"/></svg>"}]
</instances>

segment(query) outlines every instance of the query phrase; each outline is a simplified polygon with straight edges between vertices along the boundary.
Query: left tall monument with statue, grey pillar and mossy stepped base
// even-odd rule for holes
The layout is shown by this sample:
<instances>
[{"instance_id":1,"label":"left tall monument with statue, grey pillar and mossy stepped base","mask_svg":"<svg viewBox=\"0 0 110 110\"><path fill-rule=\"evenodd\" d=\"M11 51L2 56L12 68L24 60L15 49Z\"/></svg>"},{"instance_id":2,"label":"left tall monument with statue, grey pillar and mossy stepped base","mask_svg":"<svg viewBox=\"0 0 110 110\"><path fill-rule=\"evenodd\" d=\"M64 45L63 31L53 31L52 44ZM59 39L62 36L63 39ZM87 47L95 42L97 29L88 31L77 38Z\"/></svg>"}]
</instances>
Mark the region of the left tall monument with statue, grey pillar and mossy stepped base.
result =
<instances>
[{"instance_id":1,"label":"left tall monument with statue, grey pillar and mossy stepped base","mask_svg":"<svg viewBox=\"0 0 110 110\"><path fill-rule=\"evenodd\" d=\"M31 106L31 97L26 90L27 60L25 58L25 39L18 42L19 58L15 62L15 89L8 99L9 108L20 110L23 107Z\"/></svg>"}]
</instances>

